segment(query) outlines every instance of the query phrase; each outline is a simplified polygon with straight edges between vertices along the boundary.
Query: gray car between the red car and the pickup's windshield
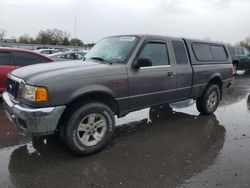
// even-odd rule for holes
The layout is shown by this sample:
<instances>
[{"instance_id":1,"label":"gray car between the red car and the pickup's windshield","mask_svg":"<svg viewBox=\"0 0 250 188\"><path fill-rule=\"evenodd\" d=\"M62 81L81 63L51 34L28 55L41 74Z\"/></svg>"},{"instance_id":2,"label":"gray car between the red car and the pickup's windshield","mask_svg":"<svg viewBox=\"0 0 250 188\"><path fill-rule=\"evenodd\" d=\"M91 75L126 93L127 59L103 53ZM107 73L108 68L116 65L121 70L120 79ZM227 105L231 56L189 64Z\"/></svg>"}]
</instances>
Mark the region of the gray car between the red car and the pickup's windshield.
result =
<instances>
[{"instance_id":1,"label":"gray car between the red car and the pickup's windshield","mask_svg":"<svg viewBox=\"0 0 250 188\"><path fill-rule=\"evenodd\" d=\"M55 61L66 61L66 60L81 60L86 55L85 52L81 51L67 51L67 52L59 52L55 54L49 55Z\"/></svg>"}]
</instances>

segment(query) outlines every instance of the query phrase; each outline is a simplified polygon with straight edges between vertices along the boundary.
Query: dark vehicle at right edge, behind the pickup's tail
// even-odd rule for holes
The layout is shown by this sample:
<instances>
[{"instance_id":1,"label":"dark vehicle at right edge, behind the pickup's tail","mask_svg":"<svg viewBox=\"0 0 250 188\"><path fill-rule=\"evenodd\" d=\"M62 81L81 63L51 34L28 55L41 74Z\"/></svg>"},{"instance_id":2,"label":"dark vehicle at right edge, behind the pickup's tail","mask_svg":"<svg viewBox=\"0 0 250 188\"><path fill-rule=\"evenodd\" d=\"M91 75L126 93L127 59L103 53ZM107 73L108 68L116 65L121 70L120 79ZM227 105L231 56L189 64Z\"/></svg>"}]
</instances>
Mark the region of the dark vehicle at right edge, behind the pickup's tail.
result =
<instances>
[{"instance_id":1,"label":"dark vehicle at right edge, behind the pickup's tail","mask_svg":"<svg viewBox=\"0 0 250 188\"><path fill-rule=\"evenodd\" d=\"M247 48L228 47L232 56L233 66L237 70L250 70L250 53Z\"/></svg>"}]
</instances>

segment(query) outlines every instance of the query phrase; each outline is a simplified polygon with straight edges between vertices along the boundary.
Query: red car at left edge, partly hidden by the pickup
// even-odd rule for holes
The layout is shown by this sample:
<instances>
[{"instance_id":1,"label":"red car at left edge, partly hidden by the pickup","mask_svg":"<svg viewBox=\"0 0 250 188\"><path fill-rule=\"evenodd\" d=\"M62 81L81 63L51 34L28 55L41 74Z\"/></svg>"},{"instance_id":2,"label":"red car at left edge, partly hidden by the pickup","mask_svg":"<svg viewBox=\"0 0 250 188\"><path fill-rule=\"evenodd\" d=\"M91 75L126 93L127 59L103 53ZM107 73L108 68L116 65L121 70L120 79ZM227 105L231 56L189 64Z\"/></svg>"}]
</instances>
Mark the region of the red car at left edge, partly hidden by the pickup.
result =
<instances>
[{"instance_id":1,"label":"red car at left edge, partly hidden by the pickup","mask_svg":"<svg viewBox=\"0 0 250 188\"><path fill-rule=\"evenodd\" d=\"M12 70L37 63L54 60L30 50L0 47L0 96L5 91L7 75Z\"/></svg>"}]
</instances>

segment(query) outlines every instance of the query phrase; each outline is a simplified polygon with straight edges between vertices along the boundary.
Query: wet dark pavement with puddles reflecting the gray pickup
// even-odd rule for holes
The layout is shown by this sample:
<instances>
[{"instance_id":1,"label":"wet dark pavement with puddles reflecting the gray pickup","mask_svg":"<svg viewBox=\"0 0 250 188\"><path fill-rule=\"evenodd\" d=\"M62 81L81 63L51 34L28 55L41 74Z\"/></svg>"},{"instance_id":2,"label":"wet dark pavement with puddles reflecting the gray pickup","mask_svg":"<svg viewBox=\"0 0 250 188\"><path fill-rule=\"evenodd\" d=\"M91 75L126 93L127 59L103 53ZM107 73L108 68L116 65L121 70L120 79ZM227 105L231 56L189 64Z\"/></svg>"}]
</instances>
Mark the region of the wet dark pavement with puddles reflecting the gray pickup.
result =
<instances>
[{"instance_id":1,"label":"wet dark pavement with puddles reflecting the gray pickup","mask_svg":"<svg viewBox=\"0 0 250 188\"><path fill-rule=\"evenodd\" d=\"M32 140L0 107L0 187L250 187L249 93L239 76L214 115L193 100L131 113L88 157L57 136Z\"/></svg>"}]
</instances>

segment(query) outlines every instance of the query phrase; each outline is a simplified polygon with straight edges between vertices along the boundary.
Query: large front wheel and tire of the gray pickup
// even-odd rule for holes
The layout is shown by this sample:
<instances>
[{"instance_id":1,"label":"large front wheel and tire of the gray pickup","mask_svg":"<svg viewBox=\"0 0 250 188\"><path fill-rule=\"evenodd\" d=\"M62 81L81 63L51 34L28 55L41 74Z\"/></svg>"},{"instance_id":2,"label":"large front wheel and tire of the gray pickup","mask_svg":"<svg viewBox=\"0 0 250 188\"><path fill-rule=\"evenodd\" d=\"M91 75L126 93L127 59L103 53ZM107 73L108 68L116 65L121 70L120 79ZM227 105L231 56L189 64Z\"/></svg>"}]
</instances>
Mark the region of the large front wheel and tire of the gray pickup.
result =
<instances>
[{"instance_id":1,"label":"large front wheel and tire of the gray pickup","mask_svg":"<svg viewBox=\"0 0 250 188\"><path fill-rule=\"evenodd\" d=\"M72 111L64 128L64 140L77 155L90 155L104 148L115 130L112 110L105 104L89 102Z\"/></svg>"}]
</instances>

